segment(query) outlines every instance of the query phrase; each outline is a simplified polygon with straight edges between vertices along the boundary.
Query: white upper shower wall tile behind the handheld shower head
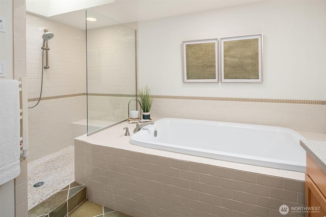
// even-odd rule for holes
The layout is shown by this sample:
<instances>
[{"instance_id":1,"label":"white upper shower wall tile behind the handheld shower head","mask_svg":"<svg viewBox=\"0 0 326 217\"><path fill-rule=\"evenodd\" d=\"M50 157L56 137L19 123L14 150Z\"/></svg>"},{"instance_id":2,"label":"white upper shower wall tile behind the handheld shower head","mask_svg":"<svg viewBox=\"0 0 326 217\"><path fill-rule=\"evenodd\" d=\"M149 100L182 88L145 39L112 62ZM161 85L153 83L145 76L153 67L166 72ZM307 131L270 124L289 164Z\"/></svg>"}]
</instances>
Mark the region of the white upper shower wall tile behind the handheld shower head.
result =
<instances>
[{"instance_id":1,"label":"white upper shower wall tile behind the handheld shower head","mask_svg":"<svg viewBox=\"0 0 326 217\"><path fill-rule=\"evenodd\" d=\"M86 92L85 30L26 14L26 66L28 98L40 93L43 28L55 36L48 41L49 69L44 70L43 97Z\"/></svg>"}]
</instances>

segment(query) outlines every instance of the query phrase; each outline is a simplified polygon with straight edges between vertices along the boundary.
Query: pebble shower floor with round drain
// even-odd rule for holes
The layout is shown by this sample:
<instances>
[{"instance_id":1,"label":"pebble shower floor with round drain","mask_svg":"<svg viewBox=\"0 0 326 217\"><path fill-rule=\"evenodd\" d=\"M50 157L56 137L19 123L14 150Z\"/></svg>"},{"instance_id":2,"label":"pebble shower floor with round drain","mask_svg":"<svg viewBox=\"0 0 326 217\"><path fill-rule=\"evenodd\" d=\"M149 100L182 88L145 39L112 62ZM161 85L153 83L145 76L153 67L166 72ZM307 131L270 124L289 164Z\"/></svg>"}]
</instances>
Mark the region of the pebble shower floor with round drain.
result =
<instances>
[{"instance_id":1,"label":"pebble shower floor with round drain","mask_svg":"<svg viewBox=\"0 0 326 217\"><path fill-rule=\"evenodd\" d=\"M28 209L56 194L75 180L74 146L69 146L27 164ZM40 187L33 187L43 181Z\"/></svg>"}]
</instances>

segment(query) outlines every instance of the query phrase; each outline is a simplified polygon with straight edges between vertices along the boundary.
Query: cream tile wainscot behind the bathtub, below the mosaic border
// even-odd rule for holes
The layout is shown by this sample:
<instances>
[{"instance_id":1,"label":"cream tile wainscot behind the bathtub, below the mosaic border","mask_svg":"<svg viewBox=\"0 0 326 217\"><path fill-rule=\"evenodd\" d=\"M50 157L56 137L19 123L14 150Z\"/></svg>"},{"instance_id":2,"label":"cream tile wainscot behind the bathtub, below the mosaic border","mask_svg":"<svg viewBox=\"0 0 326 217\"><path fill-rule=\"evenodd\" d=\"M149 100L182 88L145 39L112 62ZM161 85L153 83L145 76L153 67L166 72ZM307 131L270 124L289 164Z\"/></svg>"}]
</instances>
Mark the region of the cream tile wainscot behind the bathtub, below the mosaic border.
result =
<instances>
[{"instance_id":1,"label":"cream tile wainscot behind the bathtub, below the mosaic border","mask_svg":"<svg viewBox=\"0 0 326 217\"><path fill-rule=\"evenodd\" d=\"M154 98L153 118L177 117L286 127L303 132L326 132L326 106L318 104L241 102Z\"/></svg>"}]
</instances>

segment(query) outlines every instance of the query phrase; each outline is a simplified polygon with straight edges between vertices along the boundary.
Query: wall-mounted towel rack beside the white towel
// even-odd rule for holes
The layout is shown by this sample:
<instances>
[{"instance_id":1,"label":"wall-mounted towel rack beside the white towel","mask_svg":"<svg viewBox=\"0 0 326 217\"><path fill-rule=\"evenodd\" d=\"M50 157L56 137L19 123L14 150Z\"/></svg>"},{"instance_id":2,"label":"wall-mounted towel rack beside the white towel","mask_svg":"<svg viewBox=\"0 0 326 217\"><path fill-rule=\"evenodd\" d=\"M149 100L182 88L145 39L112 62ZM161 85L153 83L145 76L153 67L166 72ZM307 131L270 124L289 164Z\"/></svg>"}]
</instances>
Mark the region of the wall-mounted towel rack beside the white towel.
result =
<instances>
[{"instance_id":1,"label":"wall-mounted towel rack beside the white towel","mask_svg":"<svg viewBox=\"0 0 326 217\"><path fill-rule=\"evenodd\" d=\"M16 78L16 80L19 84L20 98L20 157L26 158L29 154L27 78Z\"/></svg>"}]
</instances>

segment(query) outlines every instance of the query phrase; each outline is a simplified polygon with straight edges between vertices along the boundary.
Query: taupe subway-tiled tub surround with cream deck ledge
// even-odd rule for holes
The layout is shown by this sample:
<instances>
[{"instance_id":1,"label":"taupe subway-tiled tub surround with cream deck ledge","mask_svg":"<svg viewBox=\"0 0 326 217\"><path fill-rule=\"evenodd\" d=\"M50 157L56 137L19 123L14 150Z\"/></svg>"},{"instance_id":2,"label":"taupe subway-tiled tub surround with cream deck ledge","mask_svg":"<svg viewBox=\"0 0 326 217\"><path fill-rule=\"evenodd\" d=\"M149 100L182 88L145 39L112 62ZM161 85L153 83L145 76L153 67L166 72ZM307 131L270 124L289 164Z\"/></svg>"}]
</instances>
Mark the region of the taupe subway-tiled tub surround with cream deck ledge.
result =
<instances>
[{"instance_id":1,"label":"taupe subway-tiled tub surround with cream deck ledge","mask_svg":"<svg viewBox=\"0 0 326 217\"><path fill-rule=\"evenodd\" d=\"M75 139L88 199L134 216L282 216L304 206L304 173L133 146L121 123ZM304 213L289 213L296 216Z\"/></svg>"}]
</instances>

